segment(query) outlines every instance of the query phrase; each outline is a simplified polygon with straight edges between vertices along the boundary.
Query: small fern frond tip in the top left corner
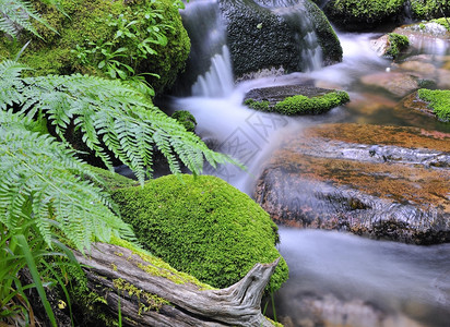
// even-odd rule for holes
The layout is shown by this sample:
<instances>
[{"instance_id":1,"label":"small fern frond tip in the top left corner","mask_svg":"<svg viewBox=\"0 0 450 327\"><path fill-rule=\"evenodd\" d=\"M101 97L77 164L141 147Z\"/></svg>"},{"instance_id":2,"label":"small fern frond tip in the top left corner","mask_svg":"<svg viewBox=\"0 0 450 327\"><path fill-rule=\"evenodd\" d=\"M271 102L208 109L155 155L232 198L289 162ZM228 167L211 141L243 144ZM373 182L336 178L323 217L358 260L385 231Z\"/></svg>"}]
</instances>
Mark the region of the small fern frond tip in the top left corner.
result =
<instances>
[{"instance_id":1,"label":"small fern frond tip in the top left corner","mask_svg":"<svg viewBox=\"0 0 450 327\"><path fill-rule=\"evenodd\" d=\"M55 4L59 10L62 10L58 1L51 0L44 2ZM0 0L0 32L3 32L12 37L16 37L22 28L40 37L35 26L33 25L32 20L35 20L36 22L57 33L36 12L33 4L26 0Z\"/></svg>"}]
</instances>

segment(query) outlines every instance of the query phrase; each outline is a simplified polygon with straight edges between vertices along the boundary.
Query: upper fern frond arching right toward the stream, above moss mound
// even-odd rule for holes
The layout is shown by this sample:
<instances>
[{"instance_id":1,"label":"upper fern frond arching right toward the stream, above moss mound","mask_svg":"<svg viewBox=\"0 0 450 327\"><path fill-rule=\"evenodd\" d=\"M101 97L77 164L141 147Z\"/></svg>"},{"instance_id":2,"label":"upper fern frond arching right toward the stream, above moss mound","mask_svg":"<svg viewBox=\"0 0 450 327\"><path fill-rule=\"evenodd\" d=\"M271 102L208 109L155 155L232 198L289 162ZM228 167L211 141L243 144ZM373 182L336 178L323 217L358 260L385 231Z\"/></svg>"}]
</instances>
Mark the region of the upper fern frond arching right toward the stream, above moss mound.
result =
<instances>
[{"instance_id":1,"label":"upper fern frond arching right toward the stream, above moss mound","mask_svg":"<svg viewBox=\"0 0 450 327\"><path fill-rule=\"evenodd\" d=\"M197 135L120 81L80 74L21 77L24 69L14 61L0 63L0 108L15 105L28 118L45 116L61 140L73 122L83 142L106 166L111 169L108 149L141 183L152 172L154 148L167 158L173 173L180 172L178 158L193 174L202 172L204 160L213 167L236 164L209 149Z\"/></svg>"}]
</instances>

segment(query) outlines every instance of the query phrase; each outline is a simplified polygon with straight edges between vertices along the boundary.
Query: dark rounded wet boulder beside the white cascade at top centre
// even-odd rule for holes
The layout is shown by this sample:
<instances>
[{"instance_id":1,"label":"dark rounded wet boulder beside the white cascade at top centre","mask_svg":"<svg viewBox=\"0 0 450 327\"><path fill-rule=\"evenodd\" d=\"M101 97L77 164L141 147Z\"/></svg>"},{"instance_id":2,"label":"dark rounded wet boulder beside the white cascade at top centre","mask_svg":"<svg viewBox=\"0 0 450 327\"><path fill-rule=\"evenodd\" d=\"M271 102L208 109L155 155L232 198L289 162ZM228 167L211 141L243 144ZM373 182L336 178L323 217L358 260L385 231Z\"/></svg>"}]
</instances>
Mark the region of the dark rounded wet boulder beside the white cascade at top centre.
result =
<instances>
[{"instance_id":1,"label":"dark rounded wet boulder beside the white cascade at top centre","mask_svg":"<svg viewBox=\"0 0 450 327\"><path fill-rule=\"evenodd\" d=\"M296 72L342 61L340 41L309 0L220 0L236 77L263 70ZM315 56L319 55L319 56ZM310 62L316 58L320 62Z\"/></svg>"}]
</instances>

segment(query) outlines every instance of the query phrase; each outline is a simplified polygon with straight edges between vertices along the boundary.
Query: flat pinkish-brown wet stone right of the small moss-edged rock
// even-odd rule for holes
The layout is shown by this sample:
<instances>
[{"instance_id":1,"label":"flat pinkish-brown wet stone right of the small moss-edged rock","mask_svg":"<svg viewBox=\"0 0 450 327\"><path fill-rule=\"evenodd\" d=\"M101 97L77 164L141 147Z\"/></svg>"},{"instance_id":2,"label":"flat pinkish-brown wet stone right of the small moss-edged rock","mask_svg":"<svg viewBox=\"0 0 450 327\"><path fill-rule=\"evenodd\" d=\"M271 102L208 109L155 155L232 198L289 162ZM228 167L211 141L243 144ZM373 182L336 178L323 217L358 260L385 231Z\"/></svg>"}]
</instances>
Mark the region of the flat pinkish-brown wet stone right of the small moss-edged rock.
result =
<instances>
[{"instance_id":1,"label":"flat pinkish-brown wet stone right of the small moss-edged rock","mask_svg":"<svg viewBox=\"0 0 450 327\"><path fill-rule=\"evenodd\" d=\"M365 75L360 82L368 86L382 88L399 97L404 97L419 88L417 77L401 72L381 72Z\"/></svg>"}]
</instances>

